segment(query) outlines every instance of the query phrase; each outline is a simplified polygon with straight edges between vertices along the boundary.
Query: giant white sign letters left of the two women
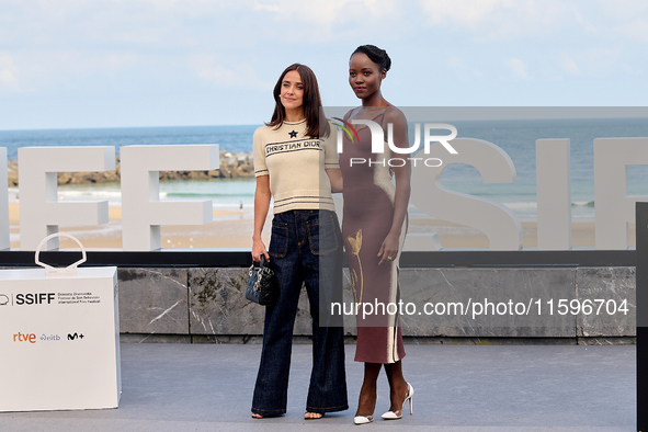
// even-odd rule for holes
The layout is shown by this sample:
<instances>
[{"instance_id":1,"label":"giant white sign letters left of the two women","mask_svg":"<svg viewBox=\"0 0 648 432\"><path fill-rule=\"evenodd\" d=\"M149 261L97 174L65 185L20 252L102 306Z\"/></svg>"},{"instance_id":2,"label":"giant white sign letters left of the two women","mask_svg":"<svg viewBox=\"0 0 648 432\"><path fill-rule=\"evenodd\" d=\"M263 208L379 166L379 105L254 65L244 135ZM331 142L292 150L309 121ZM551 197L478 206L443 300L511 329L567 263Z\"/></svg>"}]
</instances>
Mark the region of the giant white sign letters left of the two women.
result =
<instances>
[{"instance_id":1,"label":"giant white sign letters left of the two women","mask_svg":"<svg viewBox=\"0 0 648 432\"><path fill-rule=\"evenodd\" d=\"M123 249L159 249L161 225L204 225L213 219L212 201L160 202L160 171L213 170L217 145L125 146L122 154ZM115 169L114 147L26 147L19 149L21 249L35 250L59 226L96 226L109 221L107 201L59 202L57 173ZM4 197L0 200L0 245L9 248L7 149L2 148ZM0 184L0 187L2 184ZM50 240L46 250L58 248Z\"/></svg>"}]
</instances>

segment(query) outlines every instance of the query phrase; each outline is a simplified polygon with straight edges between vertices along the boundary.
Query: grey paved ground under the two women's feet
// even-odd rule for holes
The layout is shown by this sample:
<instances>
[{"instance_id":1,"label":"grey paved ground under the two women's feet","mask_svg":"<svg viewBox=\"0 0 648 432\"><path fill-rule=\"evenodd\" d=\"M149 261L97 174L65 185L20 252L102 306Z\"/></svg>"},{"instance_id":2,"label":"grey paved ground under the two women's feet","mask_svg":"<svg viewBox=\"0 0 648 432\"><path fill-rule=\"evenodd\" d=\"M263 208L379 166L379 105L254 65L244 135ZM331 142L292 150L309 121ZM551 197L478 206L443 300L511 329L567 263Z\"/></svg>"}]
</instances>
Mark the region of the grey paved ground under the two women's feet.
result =
<instances>
[{"instance_id":1,"label":"grey paved ground under the two women's feet","mask_svg":"<svg viewBox=\"0 0 648 432\"><path fill-rule=\"evenodd\" d=\"M365 430L633 431L635 346L407 345L412 417ZM294 345L288 412L250 418L258 344L123 343L123 395L114 410L0 413L0 431L353 430L362 366L346 345L351 409L304 421L310 346Z\"/></svg>"}]
</instances>

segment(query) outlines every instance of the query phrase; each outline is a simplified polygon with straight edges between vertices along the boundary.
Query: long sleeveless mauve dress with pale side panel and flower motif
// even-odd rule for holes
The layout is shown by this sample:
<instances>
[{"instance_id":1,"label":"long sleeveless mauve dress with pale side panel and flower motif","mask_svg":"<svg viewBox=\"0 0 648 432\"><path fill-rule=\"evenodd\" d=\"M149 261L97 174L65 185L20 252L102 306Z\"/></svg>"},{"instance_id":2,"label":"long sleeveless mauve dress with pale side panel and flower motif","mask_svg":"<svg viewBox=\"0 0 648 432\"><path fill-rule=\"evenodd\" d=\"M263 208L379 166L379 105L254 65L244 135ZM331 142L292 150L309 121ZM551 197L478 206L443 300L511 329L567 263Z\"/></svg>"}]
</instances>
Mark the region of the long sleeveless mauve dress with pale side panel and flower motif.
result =
<instances>
[{"instance_id":1,"label":"long sleeveless mauve dress with pale side panel and flower motif","mask_svg":"<svg viewBox=\"0 0 648 432\"><path fill-rule=\"evenodd\" d=\"M371 120L382 125L384 113L385 110ZM398 255L394 261L385 260L378 265L378 251L391 228L394 216L395 187L387 162L391 155L386 144L385 154L372 154L370 128L364 125L354 127L360 143L344 136L340 154L340 169L344 179L342 236L355 302L368 303L374 309L374 315L365 317L363 310L368 312L368 306L357 309L355 361L395 363L405 356L405 348L398 314L389 312L394 312L400 300L398 260L407 231L407 219L400 232L401 248ZM384 305L385 312L380 305ZM378 314L375 314L376 309Z\"/></svg>"}]
</instances>

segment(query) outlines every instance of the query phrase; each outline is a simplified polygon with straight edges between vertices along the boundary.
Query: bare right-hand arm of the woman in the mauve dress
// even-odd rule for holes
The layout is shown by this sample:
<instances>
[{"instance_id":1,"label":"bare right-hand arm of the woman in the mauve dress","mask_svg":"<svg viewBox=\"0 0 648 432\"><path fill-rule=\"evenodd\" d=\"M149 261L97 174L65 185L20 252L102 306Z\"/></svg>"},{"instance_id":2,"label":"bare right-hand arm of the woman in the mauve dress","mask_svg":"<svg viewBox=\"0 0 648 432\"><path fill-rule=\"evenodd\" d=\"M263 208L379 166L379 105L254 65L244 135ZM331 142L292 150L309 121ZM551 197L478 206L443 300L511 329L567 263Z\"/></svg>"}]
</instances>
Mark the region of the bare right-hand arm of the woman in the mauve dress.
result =
<instances>
[{"instance_id":1,"label":"bare right-hand arm of the woman in the mauve dress","mask_svg":"<svg viewBox=\"0 0 648 432\"><path fill-rule=\"evenodd\" d=\"M397 147L409 147L409 138L407 134L407 118L397 109L389 109L385 113L384 117L385 124L391 123L394 125L394 144ZM380 250L378 251L378 257L382 255L380 262L382 264L384 261L388 260L389 257L393 259L396 258L399 250L399 239L400 239L400 231L402 229L402 224L405 223L405 218L407 216L407 206L409 204L409 195L410 195L410 177L411 177L411 167L409 161L406 160L406 163L402 167L393 167L394 177L396 179L396 192L394 196L394 216L391 218L391 229L389 234L383 241L380 246Z\"/></svg>"}]
</instances>

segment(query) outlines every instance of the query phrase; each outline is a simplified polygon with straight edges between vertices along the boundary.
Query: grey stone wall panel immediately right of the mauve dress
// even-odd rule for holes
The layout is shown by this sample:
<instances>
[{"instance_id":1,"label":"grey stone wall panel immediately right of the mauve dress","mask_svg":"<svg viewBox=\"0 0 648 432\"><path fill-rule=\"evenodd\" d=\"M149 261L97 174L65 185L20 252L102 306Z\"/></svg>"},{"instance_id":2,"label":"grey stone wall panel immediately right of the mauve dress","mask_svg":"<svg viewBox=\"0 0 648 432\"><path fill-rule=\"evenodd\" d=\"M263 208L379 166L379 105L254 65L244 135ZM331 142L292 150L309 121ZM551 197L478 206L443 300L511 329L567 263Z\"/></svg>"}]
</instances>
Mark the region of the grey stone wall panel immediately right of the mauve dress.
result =
<instances>
[{"instance_id":1,"label":"grey stone wall panel immediately right of the mauve dress","mask_svg":"<svg viewBox=\"0 0 648 432\"><path fill-rule=\"evenodd\" d=\"M403 269L401 298L403 304L411 304L409 311L413 311L409 315L403 308L403 334L575 337L576 317L549 315L547 308L550 299L573 297L575 272L573 269Z\"/></svg>"}]
</instances>

